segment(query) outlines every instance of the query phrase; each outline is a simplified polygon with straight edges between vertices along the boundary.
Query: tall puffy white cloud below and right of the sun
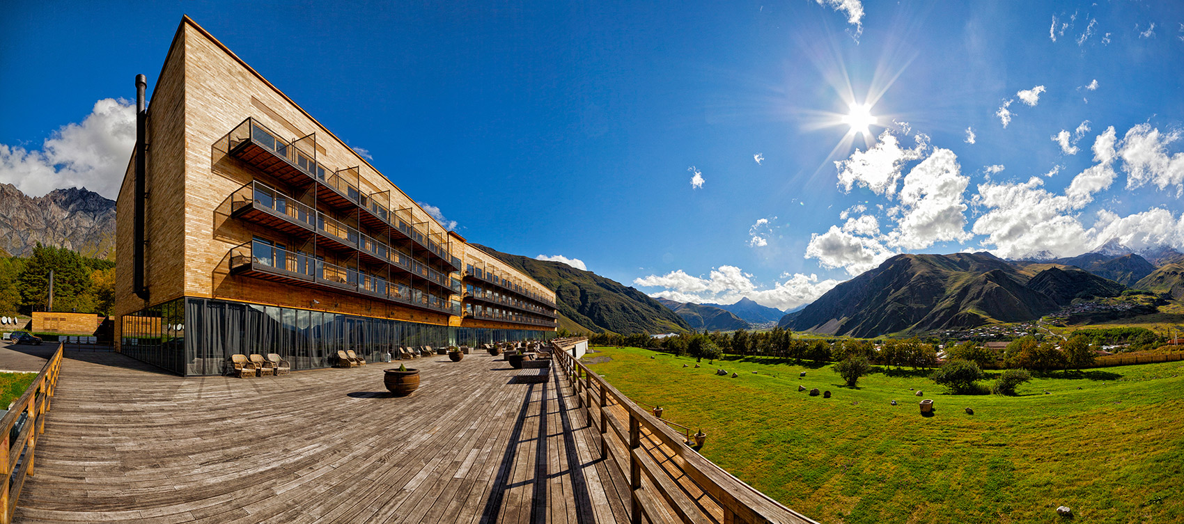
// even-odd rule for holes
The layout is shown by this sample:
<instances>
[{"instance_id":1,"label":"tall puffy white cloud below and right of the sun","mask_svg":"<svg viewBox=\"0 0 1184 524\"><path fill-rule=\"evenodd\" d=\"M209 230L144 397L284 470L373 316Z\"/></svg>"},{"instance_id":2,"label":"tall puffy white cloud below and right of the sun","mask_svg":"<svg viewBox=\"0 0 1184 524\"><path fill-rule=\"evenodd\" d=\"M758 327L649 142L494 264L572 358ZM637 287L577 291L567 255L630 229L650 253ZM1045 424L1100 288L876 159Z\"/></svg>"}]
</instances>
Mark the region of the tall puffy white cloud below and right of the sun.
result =
<instances>
[{"instance_id":1,"label":"tall puffy white cloud below and right of the sun","mask_svg":"<svg viewBox=\"0 0 1184 524\"><path fill-rule=\"evenodd\" d=\"M961 174L953 151L934 149L905 176L900 192L901 218L896 228L888 233L887 244L920 250L938 241L970 240L963 198L969 183L970 177Z\"/></svg>"}]
</instances>

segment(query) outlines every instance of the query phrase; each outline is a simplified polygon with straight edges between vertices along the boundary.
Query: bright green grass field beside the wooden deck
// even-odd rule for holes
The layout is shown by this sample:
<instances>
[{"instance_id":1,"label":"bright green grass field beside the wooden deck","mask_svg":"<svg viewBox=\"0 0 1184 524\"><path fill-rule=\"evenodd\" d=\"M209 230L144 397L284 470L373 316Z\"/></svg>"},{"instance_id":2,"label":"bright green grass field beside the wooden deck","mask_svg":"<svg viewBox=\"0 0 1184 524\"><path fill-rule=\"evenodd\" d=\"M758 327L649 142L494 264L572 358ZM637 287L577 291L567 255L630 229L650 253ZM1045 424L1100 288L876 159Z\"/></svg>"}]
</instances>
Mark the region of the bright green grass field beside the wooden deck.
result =
<instances>
[{"instance_id":1,"label":"bright green grass field beside the wooden deck","mask_svg":"<svg viewBox=\"0 0 1184 524\"><path fill-rule=\"evenodd\" d=\"M612 360L591 369L622 393L702 427L707 458L819 522L1054 523L1058 505L1075 522L1184 522L1184 362L1055 373L1004 397L947 394L908 369L850 389L829 364L694 369L690 357L594 349ZM740 376L713 375L720 367ZM933 416L909 388L934 400Z\"/></svg>"}]
</instances>

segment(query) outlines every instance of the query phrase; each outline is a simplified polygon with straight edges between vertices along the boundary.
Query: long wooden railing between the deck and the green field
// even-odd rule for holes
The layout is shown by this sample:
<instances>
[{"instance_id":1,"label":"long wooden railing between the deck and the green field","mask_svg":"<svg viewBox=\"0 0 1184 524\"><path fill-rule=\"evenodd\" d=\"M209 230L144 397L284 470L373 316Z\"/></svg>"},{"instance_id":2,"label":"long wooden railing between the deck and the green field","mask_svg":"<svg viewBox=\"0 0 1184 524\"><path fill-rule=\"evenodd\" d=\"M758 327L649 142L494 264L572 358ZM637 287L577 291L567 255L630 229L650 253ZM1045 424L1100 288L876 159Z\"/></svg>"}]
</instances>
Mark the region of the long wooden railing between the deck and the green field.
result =
<instances>
[{"instance_id":1,"label":"long wooden railing between the deck and the green field","mask_svg":"<svg viewBox=\"0 0 1184 524\"><path fill-rule=\"evenodd\" d=\"M630 483L633 523L645 516L651 523L816 524L703 458L684 435L588 370L570 352L585 339L552 341L554 360L600 432L600 457Z\"/></svg>"}]
</instances>

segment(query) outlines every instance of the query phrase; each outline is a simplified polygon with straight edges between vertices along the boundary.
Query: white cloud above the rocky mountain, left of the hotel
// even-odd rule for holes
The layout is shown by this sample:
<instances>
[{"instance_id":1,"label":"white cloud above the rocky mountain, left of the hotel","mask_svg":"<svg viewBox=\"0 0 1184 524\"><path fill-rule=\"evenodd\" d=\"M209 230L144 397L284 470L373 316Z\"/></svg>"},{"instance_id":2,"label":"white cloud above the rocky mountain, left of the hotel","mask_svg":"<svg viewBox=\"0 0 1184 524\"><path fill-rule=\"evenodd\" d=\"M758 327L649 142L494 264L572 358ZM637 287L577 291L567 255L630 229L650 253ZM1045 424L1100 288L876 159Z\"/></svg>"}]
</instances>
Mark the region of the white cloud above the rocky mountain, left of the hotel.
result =
<instances>
[{"instance_id":1,"label":"white cloud above the rocky mountain, left of the hotel","mask_svg":"<svg viewBox=\"0 0 1184 524\"><path fill-rule=\"evenodd\" d=\"M0 182L17 186L30 196L85 187L115 199L135 142L135 105L104 98L95 102L82 123L58 128L40 150L0 144Z\"/></svg>"}]
</instances>

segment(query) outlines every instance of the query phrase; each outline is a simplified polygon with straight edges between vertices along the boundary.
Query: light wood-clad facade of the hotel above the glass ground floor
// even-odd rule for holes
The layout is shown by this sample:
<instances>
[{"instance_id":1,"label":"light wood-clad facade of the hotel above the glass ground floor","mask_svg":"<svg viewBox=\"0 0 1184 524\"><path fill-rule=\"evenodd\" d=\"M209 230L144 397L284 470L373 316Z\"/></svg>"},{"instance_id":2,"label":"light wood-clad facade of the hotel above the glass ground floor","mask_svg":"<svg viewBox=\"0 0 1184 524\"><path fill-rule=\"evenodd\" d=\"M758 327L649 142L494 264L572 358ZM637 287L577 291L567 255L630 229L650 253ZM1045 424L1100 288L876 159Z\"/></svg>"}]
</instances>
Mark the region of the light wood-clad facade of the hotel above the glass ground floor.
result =
<instances>
[{"instance_id":1,"label":"light wood-clad facade of the hotel above the glass ground floor","mask_svg":"<svg viewBox=\"0 0 1184 524\"><path fill-rule=\"evenodd\" d=\"M117 345L123 324L118 317L182 297L451 328L556 330L553 291L445 229L187 17L178 27L150 98L143 219L148 299L133 290L136 216L121 213L116 219ZM245 134L236 135L243 129ZM231 150L259 136L276 138L276 145L270 150L256 148L259 151L253 156ZM284 164L271 157L279 156L277 150L289 156L300 151L301 159L284 159L289 163ZM258 160L263 156L282 169L269 172ZM315 167L301 174L290 164L303 162L304 156ZM120 190L121 209L131 209L124 203L141 196L135 194L133 164L129 162ZM298 176L288 176L290 173ZM272 212L275 216L263 216L265 220L236 213L239 203L258 206L258 198L251 202L250 194L260 190L282 195L278 200L287 207ZM246 199L238 199L243 194L247 194ZM305 209L315 218L298 224L292 211L297 206L301 220ZM284 209L291 216L283 216ZM385 219L375 218L380 215ZM395 222L407 227L398 229ZM352 235L355 241L334 242L333 235L323 231ZM363 240L369 247L391 253L388 258L395 250L406 252L406 265L414 265L422 273L393 266L381 254L369 254L362 248ZM236 271L238 260L258 263L260 248L274 255L263 258L265 271L255 271L253 266ZM311 274L314 270L305 269L305 261L309 267L315 265L318 276L340 274L335 278L345 284L354 282L355 289L321 285L323 279L305 278L308 274L295 279L271 274L282 273L275 269L284 269L284 263L288 269L298 264L300 272ZM474 304L484 306L482 315L463 315L461 304L469 302L461 284L465 264L496 269L498 282L513 287L509 292L498 289L498 299L509 305L478 300ZM359 292L366 290L371 292ZM401 302L392 299L395 293ZM429 306L419 306L422 303ZM500 316L491 315L494 309Z\"/></svg>"}]
</instances>

